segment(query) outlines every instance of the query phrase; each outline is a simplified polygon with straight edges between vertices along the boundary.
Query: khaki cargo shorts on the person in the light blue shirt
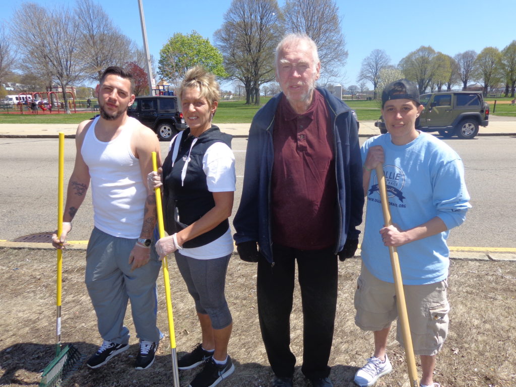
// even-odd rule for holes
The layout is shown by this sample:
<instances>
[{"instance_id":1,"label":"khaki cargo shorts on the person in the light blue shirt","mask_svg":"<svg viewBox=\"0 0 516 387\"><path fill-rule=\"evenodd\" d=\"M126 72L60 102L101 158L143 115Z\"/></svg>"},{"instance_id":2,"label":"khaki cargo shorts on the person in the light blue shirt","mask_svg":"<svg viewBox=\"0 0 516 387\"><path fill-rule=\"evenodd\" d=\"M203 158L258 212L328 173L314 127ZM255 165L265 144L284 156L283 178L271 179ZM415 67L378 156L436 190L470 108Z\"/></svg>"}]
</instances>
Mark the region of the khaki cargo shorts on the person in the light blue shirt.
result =
<instances>
[{"instance_id":1,"label":"khaki cargo shorts on the person in the light blue shirt","mask_svg":"<svg viewBox=\"0 0 516 387\"><path fill-rule=\"evenodd\" d=\"M405 285L405 301L409 316L412 345L416 355L434 355L441 349L448 333L449 304L446 280L427 285ZM357 310L355 324L364 331L380 331L398 316L393 283L373 276L362 264L354 295ZM396 340L401 344L401 324L397 324Z\"/></svg>"}]
</instances>

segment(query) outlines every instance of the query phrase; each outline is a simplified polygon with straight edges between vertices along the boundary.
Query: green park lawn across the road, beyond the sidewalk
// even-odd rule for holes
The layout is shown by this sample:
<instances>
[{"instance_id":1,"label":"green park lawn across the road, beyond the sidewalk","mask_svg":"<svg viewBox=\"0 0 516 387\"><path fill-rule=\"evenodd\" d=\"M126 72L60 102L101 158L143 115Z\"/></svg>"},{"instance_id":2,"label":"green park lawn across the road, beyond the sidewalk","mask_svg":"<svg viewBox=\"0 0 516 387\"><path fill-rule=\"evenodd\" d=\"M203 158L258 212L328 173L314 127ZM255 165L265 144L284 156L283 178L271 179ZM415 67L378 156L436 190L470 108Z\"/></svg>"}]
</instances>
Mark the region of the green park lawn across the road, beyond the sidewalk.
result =
<instances>
[{"instance_id":1,"label":"green park lawn across the road, beyond the sidewalk","mask_svg":"<svg viewBox=\"0 0 516 387\"><path fill-rule=\"evenodd\" d=\"M250 123L256 111L262 107L270 97L261 97L260 106L246 105L245 101L220 101L217 113L213 122L217 123ZM493 98L487 98L491 114L495 116L516 117L516 106L507 103L501 104L500 101L510 101L511 98L497 98L496 109ZM380 117L380 102L365 100L345 100L346 104L357 112L359 121L377 120ZM2 124L70 124L79 123L93 117L94 112L80 112L75 114L38 114L30 113L19 114L0 114Z\"/></svg>"}]
</instances>

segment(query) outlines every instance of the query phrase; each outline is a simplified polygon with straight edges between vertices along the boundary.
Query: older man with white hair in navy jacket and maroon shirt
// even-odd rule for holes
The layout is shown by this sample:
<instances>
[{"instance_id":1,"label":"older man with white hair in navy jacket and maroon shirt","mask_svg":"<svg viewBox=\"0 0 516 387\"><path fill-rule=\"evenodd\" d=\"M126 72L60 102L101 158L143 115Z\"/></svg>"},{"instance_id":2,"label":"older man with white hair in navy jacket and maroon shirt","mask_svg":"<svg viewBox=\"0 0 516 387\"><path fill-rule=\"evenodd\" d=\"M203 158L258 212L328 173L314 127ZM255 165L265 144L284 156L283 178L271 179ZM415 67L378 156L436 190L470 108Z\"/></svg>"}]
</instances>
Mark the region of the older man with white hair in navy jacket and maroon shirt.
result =
<instances>
[{"instance_id":1,"label":"older man with white hair in navy jacket and maroon shirt","mask_svg":"<svg viewBox=\"0 0 516 387\"><path fill-rule=\"evenodd\" d=\"M302 373L331 387L328 361L337 300L337 256L358 246L364 197L357 123L326 89L317 46L287 35L276 48L282 92L254 116L244 188L235 216L240 258L257 262L260 328L275 377L293 385L289 348L295 264L303 306Z\"/></svg>"}]
</instances>

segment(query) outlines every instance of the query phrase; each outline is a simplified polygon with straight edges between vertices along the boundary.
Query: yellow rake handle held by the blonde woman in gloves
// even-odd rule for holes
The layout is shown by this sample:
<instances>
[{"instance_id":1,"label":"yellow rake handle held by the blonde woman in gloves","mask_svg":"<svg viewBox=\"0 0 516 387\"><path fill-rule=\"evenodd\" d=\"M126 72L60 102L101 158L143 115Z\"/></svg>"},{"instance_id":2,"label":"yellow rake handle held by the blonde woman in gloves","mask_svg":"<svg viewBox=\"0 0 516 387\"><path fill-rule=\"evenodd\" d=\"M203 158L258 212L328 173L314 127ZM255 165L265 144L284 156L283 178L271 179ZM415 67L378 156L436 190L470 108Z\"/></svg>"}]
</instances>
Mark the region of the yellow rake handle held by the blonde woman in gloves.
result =
<instances>
[{"instance_id":1,"label":"yellow rake handle held by the blonde woman in gloves","mask_svg":"<svg viewBox=\"0 0 516 387\"><path fill-rule=\"evenodd\" d=\"M154 170L154 172L158 171L156 152L152 152L152 169ZM154 192L156 194L156 212L158 217L159 237L163 238L165 236L165 227L163 225L163 206L161 200L161 189L159 187L155 188ZM170 349L172 352L171 354L174 386L179 387L178 359L175 350L174 315L172 313L172 300L170 297L170 278L168 274L168 260L166 256L163 259L163 279L165 281L165 297L167 299L168 332L170 336Z\"/></svg>"}]
</instances>

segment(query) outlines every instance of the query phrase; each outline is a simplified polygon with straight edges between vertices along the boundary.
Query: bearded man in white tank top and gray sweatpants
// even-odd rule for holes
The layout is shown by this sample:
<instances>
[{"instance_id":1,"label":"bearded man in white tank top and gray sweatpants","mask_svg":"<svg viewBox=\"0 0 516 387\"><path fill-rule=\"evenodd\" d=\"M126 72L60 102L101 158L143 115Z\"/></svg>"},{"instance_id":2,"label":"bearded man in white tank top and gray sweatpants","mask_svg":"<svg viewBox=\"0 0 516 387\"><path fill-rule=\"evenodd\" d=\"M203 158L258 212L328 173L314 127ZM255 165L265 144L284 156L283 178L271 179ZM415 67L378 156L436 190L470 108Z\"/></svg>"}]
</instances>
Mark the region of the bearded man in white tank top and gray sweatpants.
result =
<instances>
[{"instance_id":1,"label":"bearded man in white tank top and gray sweatpants","mask_svg":"<svg viewBox=\"0 0 516 387\"><path fill-rule=\"evenodd\" d=\"M146 184L151 153L160 158L159 142L150 128L127 116L135 100L133 89L132 75L124 69L109 67L102 75L96 87L100 117L77 128L63 232L52 238L54 247L65 248L91 181L95 227L86 252L86 287L104 342L88 360L90 368L129 348L129 331L123 326L128 300L140 339L136 369L152 365L161 335L156 327L161 262L151 241L156 201Z\"/></svg>"}]
</instances>

